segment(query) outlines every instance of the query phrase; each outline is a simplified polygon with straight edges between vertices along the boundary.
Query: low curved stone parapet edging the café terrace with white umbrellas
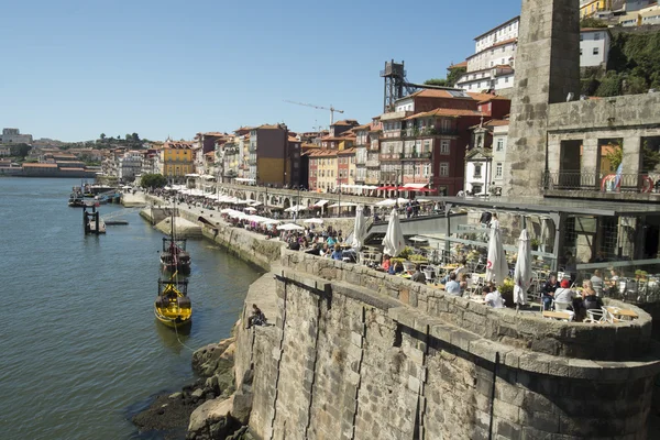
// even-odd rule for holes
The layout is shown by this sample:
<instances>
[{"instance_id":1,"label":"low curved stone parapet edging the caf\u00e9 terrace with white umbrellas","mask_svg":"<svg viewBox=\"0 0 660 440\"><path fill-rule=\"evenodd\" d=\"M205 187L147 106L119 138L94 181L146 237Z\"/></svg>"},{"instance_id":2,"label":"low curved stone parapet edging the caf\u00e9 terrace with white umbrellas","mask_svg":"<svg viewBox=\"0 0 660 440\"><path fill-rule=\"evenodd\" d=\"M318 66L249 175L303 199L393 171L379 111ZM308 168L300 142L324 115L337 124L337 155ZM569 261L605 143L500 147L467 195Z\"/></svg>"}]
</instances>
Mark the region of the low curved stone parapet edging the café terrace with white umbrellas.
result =
<instances>
[{"instance_id":1,"label":"low curved stone parapet edging the caf\u00e9 terrace with white umbrellas","mask_svg":"<svg viewBox=\"0 0 660 440\"><path fill-rule=\"evenodd\" d=\"M464 329L491 341L532 352L576 359L620 361L649 349L652 322L640 308L639 319L617 326L560 322L538 315L517 314L513 309L493 309L443 290L367 267L345 264L312 255L285 252L282 265L327 280L362 286L383 297L414 307L425 316ZM622 306L622 302L610 301Z\"/></svg>"}]
</instances>

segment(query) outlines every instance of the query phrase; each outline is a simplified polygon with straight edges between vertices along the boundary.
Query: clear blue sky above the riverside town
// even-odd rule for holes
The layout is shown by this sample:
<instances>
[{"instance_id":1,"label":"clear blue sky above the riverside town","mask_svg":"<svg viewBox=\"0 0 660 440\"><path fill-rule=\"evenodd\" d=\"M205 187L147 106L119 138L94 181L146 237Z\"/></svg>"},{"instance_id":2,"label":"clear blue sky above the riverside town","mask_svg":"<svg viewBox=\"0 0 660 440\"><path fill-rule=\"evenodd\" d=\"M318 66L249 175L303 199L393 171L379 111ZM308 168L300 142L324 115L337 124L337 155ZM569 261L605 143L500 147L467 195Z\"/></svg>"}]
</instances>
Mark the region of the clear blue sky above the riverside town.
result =
<instances>
[{"instance_id":1,"label":"clear blue sky above the riverside town","mask_svg":"<svg viewBox=\"0 0 660 440\"><path fill-rule=\"evenodd\" d=\"M519 12L520 0L7 1L0 125L64 141L328 125L285 99L367 122L385 61L404 59L414 82L444 77Z\"/></svg>"}]
</instances>

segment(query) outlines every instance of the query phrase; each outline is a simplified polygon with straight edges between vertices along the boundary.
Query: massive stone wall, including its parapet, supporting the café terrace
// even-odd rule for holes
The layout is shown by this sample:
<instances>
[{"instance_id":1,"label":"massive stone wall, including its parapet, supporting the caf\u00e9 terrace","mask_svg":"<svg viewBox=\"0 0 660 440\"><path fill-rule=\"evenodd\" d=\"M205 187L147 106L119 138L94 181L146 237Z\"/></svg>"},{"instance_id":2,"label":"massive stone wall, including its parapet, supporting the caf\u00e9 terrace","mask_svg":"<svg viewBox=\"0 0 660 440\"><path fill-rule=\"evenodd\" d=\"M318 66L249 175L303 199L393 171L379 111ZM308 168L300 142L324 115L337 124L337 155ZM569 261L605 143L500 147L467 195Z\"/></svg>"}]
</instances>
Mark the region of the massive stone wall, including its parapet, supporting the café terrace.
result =
<instances>
[{"instance_id":1,"label":"massive stone wall, including its parapet, supporting the caf\u00e9 terrace","mask_svg":"<svg viewBox=\"0 0 660 440\"><path fill-rule=\"evenodd\" d=\"M300 255L284 252L276 324L239 330L261 438L646 438L659 358L644 311L616 328L498 315Z\"/></svg>"}]
</instances>

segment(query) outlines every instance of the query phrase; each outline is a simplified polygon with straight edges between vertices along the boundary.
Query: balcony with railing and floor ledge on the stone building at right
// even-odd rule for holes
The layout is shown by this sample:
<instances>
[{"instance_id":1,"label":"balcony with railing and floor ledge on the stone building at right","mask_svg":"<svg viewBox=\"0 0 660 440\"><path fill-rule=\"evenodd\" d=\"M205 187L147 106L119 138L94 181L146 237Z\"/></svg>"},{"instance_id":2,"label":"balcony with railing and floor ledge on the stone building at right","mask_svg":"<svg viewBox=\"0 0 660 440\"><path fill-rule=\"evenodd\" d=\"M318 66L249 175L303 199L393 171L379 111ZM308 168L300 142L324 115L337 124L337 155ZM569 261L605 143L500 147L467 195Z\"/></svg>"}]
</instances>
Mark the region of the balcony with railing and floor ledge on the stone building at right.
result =
<instances>
[{"instance_id":1,"label":"balcony with railing and floor ledge on the stone building at right","mask_svg":"<svg viewBox=\"0 0 660 440\"><path fill-rule=\"evenodd\" d=\"M659 183L658 185L656 183ZM583 172L546 173L546 195L562 197L590 196L602 199L648 200L660 199L660 174L600 174Z\"/></svg>"}]
</instances>

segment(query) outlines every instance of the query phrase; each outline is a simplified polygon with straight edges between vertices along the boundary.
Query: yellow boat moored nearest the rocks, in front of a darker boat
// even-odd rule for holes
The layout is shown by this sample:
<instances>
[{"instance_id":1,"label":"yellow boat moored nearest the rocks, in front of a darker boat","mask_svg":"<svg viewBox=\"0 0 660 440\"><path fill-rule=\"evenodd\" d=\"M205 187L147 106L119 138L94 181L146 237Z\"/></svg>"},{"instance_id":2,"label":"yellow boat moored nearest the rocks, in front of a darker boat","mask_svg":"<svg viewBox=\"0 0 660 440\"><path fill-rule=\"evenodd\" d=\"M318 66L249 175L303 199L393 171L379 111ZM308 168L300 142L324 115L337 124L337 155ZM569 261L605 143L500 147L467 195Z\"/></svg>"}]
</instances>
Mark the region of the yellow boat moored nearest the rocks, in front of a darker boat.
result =
<instances>
[{"instance_id":1,"label":"yellow boat moored nearest the rocks, in front of a darker boat","mask_svg":"<svg viewBox=\"0 0 660 440\"><path fill-rule=\"evenodd\" d=\"M193 322L188 279L178 279L176 272L170 279L158 279L154 315L161 323L172 328L178 329Z\"/></svg>"}]
</instances>

